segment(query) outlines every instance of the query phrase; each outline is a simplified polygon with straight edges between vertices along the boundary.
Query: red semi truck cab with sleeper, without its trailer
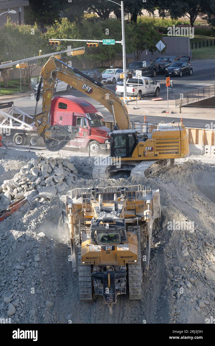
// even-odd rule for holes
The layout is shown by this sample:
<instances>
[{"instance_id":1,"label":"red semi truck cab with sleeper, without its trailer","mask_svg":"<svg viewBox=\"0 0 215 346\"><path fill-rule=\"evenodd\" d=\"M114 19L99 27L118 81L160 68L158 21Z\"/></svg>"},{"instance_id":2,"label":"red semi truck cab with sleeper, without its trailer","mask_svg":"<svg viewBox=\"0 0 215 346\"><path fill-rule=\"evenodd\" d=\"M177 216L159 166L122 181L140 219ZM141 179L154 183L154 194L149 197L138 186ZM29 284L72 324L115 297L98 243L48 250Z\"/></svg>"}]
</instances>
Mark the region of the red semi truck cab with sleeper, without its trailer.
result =
<instances>
[{"instance_id":1,"label":"red semi truck cab with sleeper, without its trailer","mask_svg":"<svg viewBox=\"0 0 215 346\"><path fill-rule=\"evenodd\" d=\"M89 146L94 154L98 154L102 149L109 149L109 128L103 126L103 119L102 114L92 104L78 97L56 96L51 101L50 125L79 125L79 132L66 145L67 149Z\"/></svg>"}]
</instances>

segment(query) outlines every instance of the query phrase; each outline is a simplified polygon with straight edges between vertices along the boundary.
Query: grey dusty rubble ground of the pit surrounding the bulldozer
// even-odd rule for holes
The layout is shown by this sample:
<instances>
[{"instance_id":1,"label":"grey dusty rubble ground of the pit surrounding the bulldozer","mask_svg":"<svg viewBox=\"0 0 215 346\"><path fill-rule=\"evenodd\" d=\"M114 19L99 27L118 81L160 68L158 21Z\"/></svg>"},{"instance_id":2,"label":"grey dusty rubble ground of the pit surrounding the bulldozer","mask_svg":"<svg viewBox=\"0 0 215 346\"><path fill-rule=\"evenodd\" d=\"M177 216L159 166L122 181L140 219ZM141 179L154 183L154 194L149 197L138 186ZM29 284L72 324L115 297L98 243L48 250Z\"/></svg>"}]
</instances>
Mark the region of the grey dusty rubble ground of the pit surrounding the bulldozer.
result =
<instances>
[{"instance_id":1,"label":"grey dusty rubble ground of the pit surrounding the bulldozer","mask_svg":"<svg viewBox=\"0 0 215 346\"><path fill-rule=\"evenodd\" d=\"M6 149L1 153L0 183L12 179L21 166L41 155L15 154ZM50 155L56 160L55 153ZM154 222L149 271L143 276L143 299L129 301L128 294L119 295L112 316L101 297L92 303L79 301L78 276L72 273L68 260L68 231L60 221L57 192L51 199L38 198L32 208L16 212L0 224L0 317L9 316L9 311L11 323L204 324L214 316L214 158L189 157L149 179L117 175L94 181L94 157L71 152L58 156L74 165L73 179L68 180L63 194L76 187L139 183L160 189L162 216ZM191 222L192 228L181 227L183 222ZM176 227L178 223L180 227ZM143 240L142 253L144 246ZM30 294L29 287L34 287L36 294Z\"/></svg>"}]
</instances>

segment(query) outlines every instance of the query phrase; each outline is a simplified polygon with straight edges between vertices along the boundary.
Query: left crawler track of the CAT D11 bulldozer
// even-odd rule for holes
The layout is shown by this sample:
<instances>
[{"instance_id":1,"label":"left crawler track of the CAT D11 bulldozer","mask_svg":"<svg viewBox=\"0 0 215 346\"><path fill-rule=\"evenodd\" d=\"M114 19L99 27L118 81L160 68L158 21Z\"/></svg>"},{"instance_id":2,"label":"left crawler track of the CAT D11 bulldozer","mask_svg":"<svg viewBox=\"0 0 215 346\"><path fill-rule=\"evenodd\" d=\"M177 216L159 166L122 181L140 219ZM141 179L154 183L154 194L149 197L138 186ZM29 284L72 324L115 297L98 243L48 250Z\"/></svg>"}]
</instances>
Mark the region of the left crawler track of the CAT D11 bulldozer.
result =
<instances>
[{"instance_id":1,"label":"left crawler track of the CAT D11 bulldozer","mask_svg":"<svg viewBox=\"0 0 215 346\"><path fill-rule=\"evenodd\" d=\"M91 265L81 264L81 245L78 251L79 299L92 301Z\"/></svg>"}]
</instances>

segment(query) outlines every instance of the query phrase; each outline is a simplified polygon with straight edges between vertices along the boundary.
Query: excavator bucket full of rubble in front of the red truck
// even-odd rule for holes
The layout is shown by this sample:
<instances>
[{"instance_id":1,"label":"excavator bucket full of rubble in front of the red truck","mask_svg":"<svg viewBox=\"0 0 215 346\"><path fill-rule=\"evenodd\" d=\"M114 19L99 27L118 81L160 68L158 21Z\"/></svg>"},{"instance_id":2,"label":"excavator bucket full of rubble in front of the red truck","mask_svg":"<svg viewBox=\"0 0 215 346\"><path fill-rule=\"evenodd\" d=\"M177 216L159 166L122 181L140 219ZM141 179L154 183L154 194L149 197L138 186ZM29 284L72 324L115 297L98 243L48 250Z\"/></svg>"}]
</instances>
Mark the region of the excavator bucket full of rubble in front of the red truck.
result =
<instances>
[{"instance_id":1,"label":"excavator bucket full of rubble in front of the red truck","mask_svg":"<svg viewBox=\"0 0 215 346\"><path fill-rule=\"evenodd\" d=\"M45 131L45 147L49 151L58 151L75 138L78 127L68 125L50 126Z\"/></svg>"}]
</instances>

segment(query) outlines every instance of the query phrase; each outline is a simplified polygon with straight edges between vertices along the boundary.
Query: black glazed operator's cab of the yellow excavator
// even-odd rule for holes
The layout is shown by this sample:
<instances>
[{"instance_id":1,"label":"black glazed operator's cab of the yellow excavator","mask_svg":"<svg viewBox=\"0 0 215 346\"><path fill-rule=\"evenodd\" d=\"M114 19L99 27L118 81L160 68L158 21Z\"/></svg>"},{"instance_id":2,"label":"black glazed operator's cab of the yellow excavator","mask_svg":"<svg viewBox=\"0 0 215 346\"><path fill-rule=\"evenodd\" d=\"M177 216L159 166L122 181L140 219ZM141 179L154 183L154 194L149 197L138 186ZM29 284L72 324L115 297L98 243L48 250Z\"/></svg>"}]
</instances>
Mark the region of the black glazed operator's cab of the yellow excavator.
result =
<instances>
[{"instance_id":1,"label":"black glazed operator's cab of the yellow excavator","mask_svg":"<svg viewBox=\"0 0 215 346\"><path fill-rule=\"evenodd\" d=\"M137 147L137 133L134 130L114 131L111 134L110 156L132 157Z\"/></svg>"}]
</instances>

